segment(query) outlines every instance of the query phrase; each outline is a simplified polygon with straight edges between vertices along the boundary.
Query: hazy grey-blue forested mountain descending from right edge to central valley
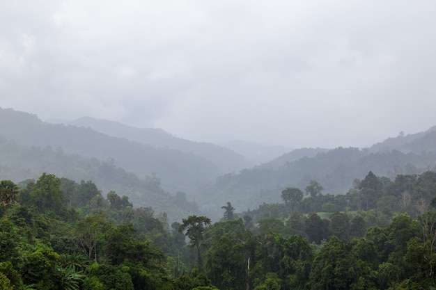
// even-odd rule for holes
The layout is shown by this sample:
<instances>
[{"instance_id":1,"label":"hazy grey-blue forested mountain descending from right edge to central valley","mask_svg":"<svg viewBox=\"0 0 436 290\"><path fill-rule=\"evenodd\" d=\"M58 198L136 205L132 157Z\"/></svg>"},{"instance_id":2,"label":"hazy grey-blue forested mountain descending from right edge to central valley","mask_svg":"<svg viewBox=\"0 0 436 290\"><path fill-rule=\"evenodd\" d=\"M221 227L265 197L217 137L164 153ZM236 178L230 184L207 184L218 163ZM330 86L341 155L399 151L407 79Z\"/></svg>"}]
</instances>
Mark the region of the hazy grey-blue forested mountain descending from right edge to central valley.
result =
<instances>
[{"instance_id":1,"label":"hazy grey-blue forested mountain descending from right edge to central valley","mask_svg":"<svg viewBox=\"0 0 436 290\"><path fill-rule=\"evenodd\" d=\"M302 156L304 155L304 156ZM354 179L363 179L371 170L378 176L394 179L400 174L420 174L436 168L436 131L389 138L371 148L334 150L301 149L283 154L269 163L218 177L203 188L198 203L212 215L231 202L237 211L254 209L263 202L281 202L287 186L304 190L311 179L325 193L344 194Z\"/></svg>"}]
</instances>

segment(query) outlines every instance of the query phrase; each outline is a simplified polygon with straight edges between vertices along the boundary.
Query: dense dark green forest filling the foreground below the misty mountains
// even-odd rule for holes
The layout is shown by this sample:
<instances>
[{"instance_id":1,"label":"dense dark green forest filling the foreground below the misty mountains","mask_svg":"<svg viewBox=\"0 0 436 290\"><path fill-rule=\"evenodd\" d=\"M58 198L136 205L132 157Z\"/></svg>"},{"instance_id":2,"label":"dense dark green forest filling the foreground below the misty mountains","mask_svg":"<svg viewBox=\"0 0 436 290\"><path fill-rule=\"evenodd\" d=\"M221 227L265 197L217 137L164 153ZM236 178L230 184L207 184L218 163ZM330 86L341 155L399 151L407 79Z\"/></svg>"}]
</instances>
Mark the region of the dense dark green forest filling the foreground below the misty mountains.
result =
<instances>
[{"instance_id":1,"label":"dense dark green forest filling the foreground below the misty mountains","mask_svg":"<svg viewBox=\"0 0 436 290\"><path fill-rule=\"evenodd\" d=\"M368 172L221 220L165 213L43 173L0 182L0 289L434 289L436 172ZM219 206L218 206L219 207Z\"/></svg>"}]
</instances>

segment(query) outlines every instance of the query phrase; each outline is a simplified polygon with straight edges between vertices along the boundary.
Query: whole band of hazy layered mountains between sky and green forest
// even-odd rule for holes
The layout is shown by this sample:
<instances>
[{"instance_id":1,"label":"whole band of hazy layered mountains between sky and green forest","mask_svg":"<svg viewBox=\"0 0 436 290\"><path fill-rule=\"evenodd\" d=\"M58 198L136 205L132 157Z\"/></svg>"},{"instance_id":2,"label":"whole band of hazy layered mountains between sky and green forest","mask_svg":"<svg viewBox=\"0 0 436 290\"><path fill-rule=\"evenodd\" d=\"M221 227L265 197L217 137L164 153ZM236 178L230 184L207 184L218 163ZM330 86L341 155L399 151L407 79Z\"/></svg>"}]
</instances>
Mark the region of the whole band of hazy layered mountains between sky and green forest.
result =
<instances>
[{"instance_id":1,"label":"whole band of hazy layered mountains between sky and green forest","mask_svg":"<svg viewBox=\"0 0 436 290\"><path fill-rule=\"evenodd\" d=\"M0 179L20 182L49 172L78 182L93 180L102 191L130 196L136 206L166 211L171 220L201 212L219 218L226 202L237 211L279 202L283 188L304 189L312 179L325 193L343 194L369 170L395 178L436 165L435 127L368 148L290 150L257 165L248 154L242 156L243 144L231 150L162 129L88 117L51 124L31 113L0 108ZM274 150L270 153L285 148Z\"/></svg>"}]
</instances>

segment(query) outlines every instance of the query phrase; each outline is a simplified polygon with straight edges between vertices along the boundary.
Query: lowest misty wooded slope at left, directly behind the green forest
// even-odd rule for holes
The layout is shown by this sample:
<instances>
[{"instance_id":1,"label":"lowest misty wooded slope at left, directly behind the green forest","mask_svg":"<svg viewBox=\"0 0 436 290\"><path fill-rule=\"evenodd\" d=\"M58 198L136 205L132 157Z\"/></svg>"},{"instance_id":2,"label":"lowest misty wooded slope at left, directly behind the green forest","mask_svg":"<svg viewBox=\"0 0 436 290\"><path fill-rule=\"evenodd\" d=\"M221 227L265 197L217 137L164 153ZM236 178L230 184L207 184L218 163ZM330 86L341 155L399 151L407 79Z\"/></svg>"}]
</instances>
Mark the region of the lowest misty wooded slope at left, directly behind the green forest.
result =
<instances>
[{"instance_id":1,"label":"lowest misty wooded slope at left, directly behind the green forest","mask_svg":"<svg viewBox=\"0 0 436 290\"><path fill-rule=\"evenodd\" d=\"M52 147L26 147L0 137L0 180L11 179L19 183L25 179L38 179L43 172L76 182L92 180L104 197L109 191L127 195L135 207L152 207L156 213L166 212L169 222L201 214L198 205L189 202L185 194L171 195L163 191L156 177L139 179L111 161L67 154Z\"/></svg>"}]
</instances>

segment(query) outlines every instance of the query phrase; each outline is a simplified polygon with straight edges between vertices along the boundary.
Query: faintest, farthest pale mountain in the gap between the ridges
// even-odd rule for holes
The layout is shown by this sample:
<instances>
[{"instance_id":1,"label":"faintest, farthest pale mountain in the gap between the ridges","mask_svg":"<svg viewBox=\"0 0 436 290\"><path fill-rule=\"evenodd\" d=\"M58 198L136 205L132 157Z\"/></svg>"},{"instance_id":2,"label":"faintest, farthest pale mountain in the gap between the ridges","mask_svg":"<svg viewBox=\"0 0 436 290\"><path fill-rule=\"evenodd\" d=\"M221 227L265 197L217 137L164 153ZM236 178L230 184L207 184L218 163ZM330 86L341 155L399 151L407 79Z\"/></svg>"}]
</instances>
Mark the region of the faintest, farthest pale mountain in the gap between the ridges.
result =
<instances>
[{"instance_id":1,"label":"faintest, farthest pale mountain in the gap between the ridges","mask_svg":"<svg viewBox=\"0 0 436 290\"><path fill-rule=\"evenodd\" d=\"M292 150L290 147L281 145L263 145L244 140L232 140L222 143L222 145L238 154L241 154L251 161L253 165L271 161L272 159ZM248 166L246 166L246 168L247 167Z\"/></svg>"}]
</instances>

